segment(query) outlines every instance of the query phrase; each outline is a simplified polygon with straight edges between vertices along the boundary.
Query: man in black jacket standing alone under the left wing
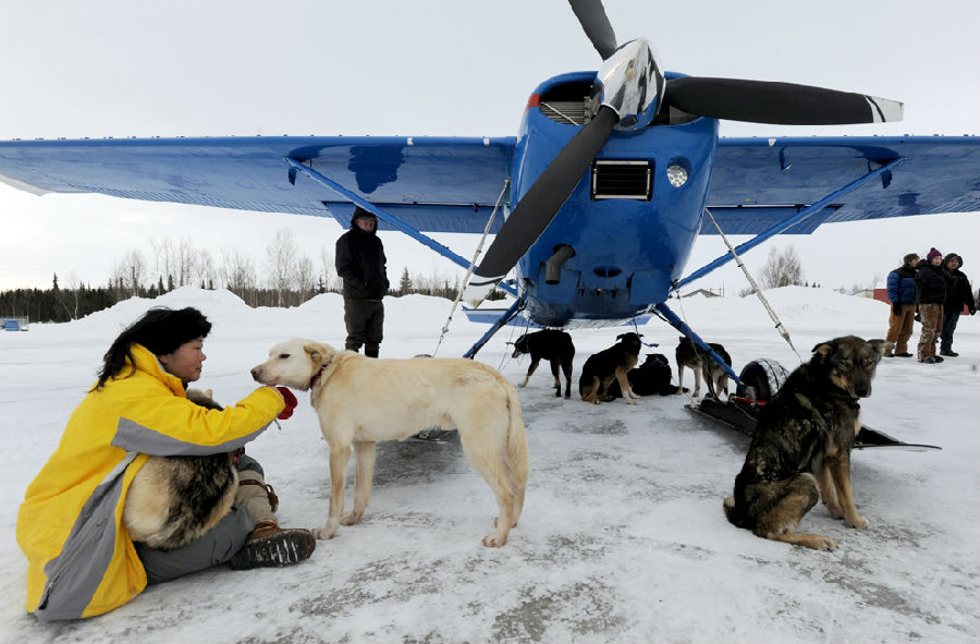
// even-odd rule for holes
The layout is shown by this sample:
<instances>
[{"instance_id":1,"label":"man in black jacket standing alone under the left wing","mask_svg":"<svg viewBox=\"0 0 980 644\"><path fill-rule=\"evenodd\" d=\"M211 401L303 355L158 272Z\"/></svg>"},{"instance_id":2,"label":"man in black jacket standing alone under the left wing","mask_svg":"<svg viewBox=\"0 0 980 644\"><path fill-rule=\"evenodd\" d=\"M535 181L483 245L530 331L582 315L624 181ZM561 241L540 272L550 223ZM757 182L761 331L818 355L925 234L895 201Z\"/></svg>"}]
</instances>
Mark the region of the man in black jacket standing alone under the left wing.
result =
<instances>
[{"instance_id":1,"label":"man in black jacket standing alone under the left wing","mask_svg":"<svg viewBox=\"0 0 980 644\"><path fill-rule=\"evenodd\" d=\"M378 238L378 218L360 206L354 210L351 230L336 240L336 275L344 280L345 348L378 357L384 325L382 297L388 293L384 246Z\"/></svg>"}]
</instances>

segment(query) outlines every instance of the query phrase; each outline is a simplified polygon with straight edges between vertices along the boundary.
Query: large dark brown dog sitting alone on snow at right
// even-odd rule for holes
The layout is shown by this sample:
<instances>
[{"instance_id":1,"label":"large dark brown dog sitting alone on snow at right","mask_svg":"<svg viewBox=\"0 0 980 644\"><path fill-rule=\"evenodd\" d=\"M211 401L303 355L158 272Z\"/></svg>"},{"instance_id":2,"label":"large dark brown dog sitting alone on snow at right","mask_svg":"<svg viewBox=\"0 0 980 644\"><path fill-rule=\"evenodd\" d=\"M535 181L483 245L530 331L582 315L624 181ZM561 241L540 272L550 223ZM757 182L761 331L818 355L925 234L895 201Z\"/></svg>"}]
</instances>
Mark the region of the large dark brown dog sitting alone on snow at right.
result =
<instances>
[{"instance_id":1,"label":"large dark brown dog sitting alone on snow at right","mask_svg":"<svg viewBox=\"0 0 980 644\"><path fill-rule=\"evenodd\" d=\"M831 517L863 528L850 487L850 448L860 432L857 400L871 394L871 379L884 340L855 336L813 348L759 412L759 423L735 493L724 501L734 525L768 539L817 550L837 547L834 539L795 532L819 499Z\"/></svg>"}]
</instances>

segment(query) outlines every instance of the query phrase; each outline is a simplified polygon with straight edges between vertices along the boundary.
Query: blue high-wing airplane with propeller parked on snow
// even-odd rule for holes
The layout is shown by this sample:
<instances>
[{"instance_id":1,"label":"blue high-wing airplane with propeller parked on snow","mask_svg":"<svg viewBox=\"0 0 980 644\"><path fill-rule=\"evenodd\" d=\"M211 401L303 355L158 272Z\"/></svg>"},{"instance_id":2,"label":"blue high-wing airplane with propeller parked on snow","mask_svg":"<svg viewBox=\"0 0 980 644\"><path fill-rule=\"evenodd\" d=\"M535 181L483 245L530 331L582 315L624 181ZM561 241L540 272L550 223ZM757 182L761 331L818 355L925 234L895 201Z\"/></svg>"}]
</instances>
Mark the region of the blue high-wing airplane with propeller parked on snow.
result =
<instances>
[{"instance_id":1,"label":"blue high-wing airplane with propeller parked on snow","mask_svg":"<svg viewBox=\"0 0 980 644\"><path fill-rule=\"evenodd\" d=\"M901 120L903 106L666 72L647 40L616 41L599 0L569 4L602 66L541 83L514 137L10 141L0 142L0 181L341 226L360 206L381 230L467 268L469 259L427 233L492 233L466 297L500 288L515 301L469 356L522 312L562 328L657 315L703 344L665 304L731 259L685 276L699 234L756 235L745 252L826 222L980 209L977 136L721 138L720 119L875 123Z\"/></svg>"}]
</instances>

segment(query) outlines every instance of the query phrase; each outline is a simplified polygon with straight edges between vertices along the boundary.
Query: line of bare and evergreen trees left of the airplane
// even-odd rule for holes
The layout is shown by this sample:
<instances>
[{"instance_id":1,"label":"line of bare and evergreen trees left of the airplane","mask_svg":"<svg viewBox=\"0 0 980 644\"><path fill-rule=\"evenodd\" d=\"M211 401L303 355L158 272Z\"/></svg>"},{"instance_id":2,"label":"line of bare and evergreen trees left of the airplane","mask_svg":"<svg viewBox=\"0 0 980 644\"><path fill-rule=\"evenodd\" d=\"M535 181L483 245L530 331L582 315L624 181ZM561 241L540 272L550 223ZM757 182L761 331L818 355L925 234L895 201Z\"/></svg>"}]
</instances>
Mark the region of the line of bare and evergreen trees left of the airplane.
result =
<instances>
[{"instance_id":1,"label":"line of bare and evergreen trees left of the airplane","mask_svg":"<svg viewBox=\"0 0 980 644\"><path fill-rule=\"evenodd\" d=\"M222 251L222 264L217 266L207 250L194 248L187 240L154 240L149 247L154 255L152 268L140 251L131 251L115 264L106 285L93 288L77 283L72 275L65 287L54 274L50 289L0 291L0 317L27 317L36 323L70 321L130 297L154 299L184 285L228 289L253 307L289 307L321 293L339 293L342 287L332 254L321 248L319 266L315 266L298 252L294 233L289 230L281 230L270 242L262 265L233 250ZM413 277L407 267L403 268L396 285L392 281L389 294L395 296L420 293L455 299L461 287L457 276ZM503 292L494 291L490 299L503 296Z\"/></svg>"}]
</instances>

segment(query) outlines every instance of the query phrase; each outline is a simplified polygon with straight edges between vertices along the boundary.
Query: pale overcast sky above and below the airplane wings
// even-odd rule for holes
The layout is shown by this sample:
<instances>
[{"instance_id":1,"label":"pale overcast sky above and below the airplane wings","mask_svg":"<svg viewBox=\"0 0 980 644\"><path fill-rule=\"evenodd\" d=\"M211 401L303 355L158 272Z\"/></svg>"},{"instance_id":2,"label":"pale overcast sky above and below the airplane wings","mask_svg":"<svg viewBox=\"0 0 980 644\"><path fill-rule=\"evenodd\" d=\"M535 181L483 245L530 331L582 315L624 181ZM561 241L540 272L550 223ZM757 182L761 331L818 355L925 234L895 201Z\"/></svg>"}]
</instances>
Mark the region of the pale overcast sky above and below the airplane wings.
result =
<instances>
[{"instance_id":1,"label":"pale overcast sky above and below the airplane wings","mask_svg":"<svg viewBox=\"0 0 980 644\"><path fill-rule=\"evenodd\" d=\"M786 81L905 101L903 123L788 127L723 122L722 135L980 132L980 3L887 4L690 0L605 2L620 41L648 37L666 69ZM0 139L59 136L490 135L516 132L542 80L598 68L560 0L328 3L14 2L0 0ZM980 169L978 169L980 173ZM150 239L189 239L220 260L261 260L268 239L296 232L319 263L342 232L332 220L125 202L36 197L0 185L0 289L47 287L53 272L106 283ZM701 238L688 269L723 248ZM449 271L411 240L384 236L389 272ZM468 255L475 242L444 238ZM980 259L980 216L834 224L785 236L808 279L850 285L884 276L906 252ZM945 246L945 247L942 247ZM955 246L955 247L954 247ZM746 260L765 258L765 246ZM976 258L976 259L975 259ZM712 282L712 283L708 283ZM702 284L740 288L731 272Z\"/></svg>"}]
</instances>

